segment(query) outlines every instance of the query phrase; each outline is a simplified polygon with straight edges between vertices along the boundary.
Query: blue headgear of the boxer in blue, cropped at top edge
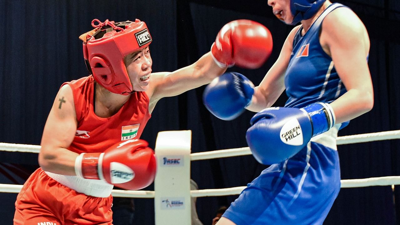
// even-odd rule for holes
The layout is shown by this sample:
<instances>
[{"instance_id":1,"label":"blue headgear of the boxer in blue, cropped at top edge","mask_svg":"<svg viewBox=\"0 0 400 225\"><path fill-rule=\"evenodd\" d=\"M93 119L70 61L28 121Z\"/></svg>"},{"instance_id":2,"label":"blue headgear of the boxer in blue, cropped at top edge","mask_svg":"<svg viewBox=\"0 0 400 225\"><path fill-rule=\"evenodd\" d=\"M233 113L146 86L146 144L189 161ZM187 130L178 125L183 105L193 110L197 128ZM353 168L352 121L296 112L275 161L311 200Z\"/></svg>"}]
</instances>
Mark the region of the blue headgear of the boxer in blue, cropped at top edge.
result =
<instances>
[{"instance_id":1,"label":"blue headgear of the boxer in blue, cropped at top edge","mask_svg":"<svg viewBox=\"0 0 400 225\"><path fill-rule=\"evenodd\" d=\"M301 20L308 20L314 16L326 0L290 0L290 10L292 11L293 21L290 25L295 25Z\"/></svg>"}]
</instances>

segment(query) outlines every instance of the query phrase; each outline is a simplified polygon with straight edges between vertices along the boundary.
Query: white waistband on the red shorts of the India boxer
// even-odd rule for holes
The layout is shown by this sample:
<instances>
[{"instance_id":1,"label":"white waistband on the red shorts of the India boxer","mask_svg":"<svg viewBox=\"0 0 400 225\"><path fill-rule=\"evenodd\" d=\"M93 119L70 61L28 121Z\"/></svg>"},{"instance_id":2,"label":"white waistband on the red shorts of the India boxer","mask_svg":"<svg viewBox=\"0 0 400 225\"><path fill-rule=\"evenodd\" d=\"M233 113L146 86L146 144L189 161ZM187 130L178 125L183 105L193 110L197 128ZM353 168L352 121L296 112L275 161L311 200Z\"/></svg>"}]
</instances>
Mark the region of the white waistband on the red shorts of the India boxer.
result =
<instances>
[{"instance_id":1,"label":"white waistband on the red shorts of the India boxer","mask_svg":"<svg viewBox=\"0 0 400 225\"><path fill-rule=\"evenodd\" d=\"M111 195L114 185L103 180L84 179L77 176L66 176L44 171L49 177L70 189L93 197L106 198Z\"/></svg>"}]
</instances>

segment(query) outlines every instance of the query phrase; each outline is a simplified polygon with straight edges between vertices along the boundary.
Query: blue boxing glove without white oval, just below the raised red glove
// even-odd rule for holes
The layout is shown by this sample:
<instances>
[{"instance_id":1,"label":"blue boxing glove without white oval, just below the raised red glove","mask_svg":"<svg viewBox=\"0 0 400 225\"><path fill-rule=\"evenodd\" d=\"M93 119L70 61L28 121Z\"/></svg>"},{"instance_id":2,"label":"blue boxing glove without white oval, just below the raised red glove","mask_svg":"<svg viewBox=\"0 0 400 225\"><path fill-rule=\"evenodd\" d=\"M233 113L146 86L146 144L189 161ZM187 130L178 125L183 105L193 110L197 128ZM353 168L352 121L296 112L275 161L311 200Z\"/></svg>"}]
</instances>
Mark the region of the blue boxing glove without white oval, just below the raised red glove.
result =
<instances>
[{"instance_id":1,"label":"blue boxing glove without white oval, just below the raised red glove","mask_svg":"<svg viewBox=\"0 0 400 225\"><path fill-rule=\"evenodd\" d=\"M203 92L208 111L222 120L233 120L250 104L254 84L237 72L226 72L215 78Z\"/></svg>"}]
</instances>

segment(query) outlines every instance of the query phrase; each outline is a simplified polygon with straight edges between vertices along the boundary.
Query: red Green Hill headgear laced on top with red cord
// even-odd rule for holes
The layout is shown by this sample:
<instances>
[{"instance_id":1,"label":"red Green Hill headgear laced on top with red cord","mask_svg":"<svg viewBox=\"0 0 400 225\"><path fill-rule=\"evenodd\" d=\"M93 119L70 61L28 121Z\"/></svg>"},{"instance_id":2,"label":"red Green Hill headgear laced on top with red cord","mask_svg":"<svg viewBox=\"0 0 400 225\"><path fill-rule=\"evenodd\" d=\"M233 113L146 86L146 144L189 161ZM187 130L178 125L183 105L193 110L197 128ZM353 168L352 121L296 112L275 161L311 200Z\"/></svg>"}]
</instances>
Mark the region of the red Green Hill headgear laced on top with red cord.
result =
<instances>
[{"instance_id":1,"label":"red Green Hill headgear laced on top with red cord","mask_svg":"<svg viewBox=\"0 0 400 225\"><path fill-rule=\"evenodd\" d=\"M99 24L95 25L94 22ZM82 34L83 56L94 79L110 92L130 94L133 92L124 57L146 48L152 38L144 22L92 21L94 30ZM86 40L84 38L86 36Z\"/></svg>"}]
</instances>

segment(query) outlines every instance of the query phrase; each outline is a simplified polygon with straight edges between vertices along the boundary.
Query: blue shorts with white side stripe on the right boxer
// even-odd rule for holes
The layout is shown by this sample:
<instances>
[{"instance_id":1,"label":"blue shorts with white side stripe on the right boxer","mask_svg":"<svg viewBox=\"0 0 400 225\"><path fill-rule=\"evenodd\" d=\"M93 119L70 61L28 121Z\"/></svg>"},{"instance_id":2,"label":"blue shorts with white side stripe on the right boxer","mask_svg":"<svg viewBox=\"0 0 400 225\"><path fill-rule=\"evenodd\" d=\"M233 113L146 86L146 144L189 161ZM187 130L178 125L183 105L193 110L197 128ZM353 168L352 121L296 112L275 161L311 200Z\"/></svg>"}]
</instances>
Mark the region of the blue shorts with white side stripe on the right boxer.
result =
<instances>
[{"instance_id":1,"label":"blue shorts with white side stripe on the right boxer","mask_svg":"<svg viewBox=\"0 0 400 225\"><path fill-rule=\"evenodd\" d=\"M262 171L226 210L237 225L322 224L340 190L338 152L310 142Z\"/></svg>"}]
</instances>

